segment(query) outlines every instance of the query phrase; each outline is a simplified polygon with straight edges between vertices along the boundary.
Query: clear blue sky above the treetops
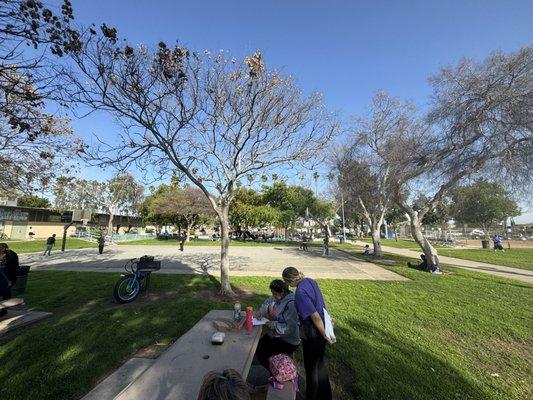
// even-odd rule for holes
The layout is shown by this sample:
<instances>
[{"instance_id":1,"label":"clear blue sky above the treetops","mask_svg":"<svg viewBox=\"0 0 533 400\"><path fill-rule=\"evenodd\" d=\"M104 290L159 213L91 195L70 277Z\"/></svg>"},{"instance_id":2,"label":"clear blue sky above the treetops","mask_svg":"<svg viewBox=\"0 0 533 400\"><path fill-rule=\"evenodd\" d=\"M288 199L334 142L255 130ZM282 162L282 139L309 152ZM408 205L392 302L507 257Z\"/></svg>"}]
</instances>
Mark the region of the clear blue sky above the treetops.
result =
<instances>
[{"instance_id":1,"label":"clear blue sky above the treetops","mask_svg":"<svg viewBox=\"0 0 533 400\"><path fill-rule=\"evenodd\" d=\"M106 22L130 43L177 40L236 57L260 50L268 65L283 68L305 90L323 93L329 107L345 116L364 112L379 89L424 107L427 78L440 67L533 42L531 0L72 3L79 23ZM99 116L74 127L83 136L115 129Z\"/></svg>"}]
</instances>

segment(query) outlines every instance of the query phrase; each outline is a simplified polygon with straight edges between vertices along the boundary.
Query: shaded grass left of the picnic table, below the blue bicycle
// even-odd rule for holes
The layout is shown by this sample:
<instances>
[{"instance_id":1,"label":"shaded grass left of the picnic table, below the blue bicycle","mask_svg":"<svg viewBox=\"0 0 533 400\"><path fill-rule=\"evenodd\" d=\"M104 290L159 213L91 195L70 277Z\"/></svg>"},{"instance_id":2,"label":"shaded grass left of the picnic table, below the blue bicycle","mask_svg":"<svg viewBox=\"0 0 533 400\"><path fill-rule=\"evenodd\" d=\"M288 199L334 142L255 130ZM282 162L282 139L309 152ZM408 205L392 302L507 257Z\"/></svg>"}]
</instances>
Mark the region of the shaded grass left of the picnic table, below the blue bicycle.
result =
<instances>
[{"instance_id":1,"label":"shaded grass left of the picnic table, below the blue bicycle","mask_svg":"<svg viewBox=\"0 0 533 400\"><path fill-rule=\"evenodd\" d=\"M213 277L156 275L150 295L128 305L113 301L115 281L101 273L32 273L27 304L54 315L0 341L0 381L9 382L0 387L2 400L80 398L139 349L170 345L211 309L232 307L201 294L218 291Z\"/></svg>"}]
</instances>

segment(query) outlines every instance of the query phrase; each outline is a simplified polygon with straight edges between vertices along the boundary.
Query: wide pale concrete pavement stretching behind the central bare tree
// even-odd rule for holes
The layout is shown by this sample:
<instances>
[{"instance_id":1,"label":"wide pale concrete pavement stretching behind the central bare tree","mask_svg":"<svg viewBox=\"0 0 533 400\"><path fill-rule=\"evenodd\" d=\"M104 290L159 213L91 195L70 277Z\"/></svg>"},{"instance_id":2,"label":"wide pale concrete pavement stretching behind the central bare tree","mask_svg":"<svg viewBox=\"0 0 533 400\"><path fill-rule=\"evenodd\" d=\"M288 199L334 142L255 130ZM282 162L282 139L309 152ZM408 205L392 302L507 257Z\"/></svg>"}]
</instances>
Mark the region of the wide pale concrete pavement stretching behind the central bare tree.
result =
<instances>
[{"instance_id":1,"label":"wide pale concrete pavement stretching behind the central bare tree","mask_svg":"<svg viewBox=\"0 0 533 400\"><path fill-rule=\"evenodd\" d=\"M42 253L21 254L22 265L32 270L99 271L120 273L123 265L131 258L144 254L161 260L162 273L199 274L202 266L209 273L218 276L220 249L212 246L185 246L180 252L177 246L109 246L104 254L94 249L53 252L51 256ZM297 247L230 247L230 269L232 276L281 276L286 266L293 266L312 278L407 280L376 264L357 260L348 254L331 249L329 256L322 256L320 248L309 251Z\"/></svg>"}]
</instances>

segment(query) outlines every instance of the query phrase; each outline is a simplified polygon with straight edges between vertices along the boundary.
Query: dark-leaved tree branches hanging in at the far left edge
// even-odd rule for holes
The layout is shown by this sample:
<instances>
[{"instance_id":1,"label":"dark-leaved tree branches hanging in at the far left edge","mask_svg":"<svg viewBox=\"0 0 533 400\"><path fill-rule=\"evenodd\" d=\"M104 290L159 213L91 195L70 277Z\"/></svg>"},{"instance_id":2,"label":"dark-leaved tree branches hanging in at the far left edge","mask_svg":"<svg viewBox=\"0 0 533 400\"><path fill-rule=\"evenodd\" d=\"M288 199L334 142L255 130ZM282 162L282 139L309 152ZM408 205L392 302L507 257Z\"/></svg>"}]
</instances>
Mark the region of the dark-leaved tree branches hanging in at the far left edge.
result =
<instances>
[{"instance_id":1,"label":"dark-leaved tree branches hanging in at the far left edge","mask_svg":"<svg viewBox=\"0 0 533 400\"><path fill-rule=\"evenodd\" d=\"M0 2L0 190L28 191L46 186L81 142L68 120L45 112L45 101L59 100L59 82L47 55L61 56L74 31L72 8L64 1L56 15L36 0ZM31 45L31 49L29 47Z\"/></svg>"}]
</instances>

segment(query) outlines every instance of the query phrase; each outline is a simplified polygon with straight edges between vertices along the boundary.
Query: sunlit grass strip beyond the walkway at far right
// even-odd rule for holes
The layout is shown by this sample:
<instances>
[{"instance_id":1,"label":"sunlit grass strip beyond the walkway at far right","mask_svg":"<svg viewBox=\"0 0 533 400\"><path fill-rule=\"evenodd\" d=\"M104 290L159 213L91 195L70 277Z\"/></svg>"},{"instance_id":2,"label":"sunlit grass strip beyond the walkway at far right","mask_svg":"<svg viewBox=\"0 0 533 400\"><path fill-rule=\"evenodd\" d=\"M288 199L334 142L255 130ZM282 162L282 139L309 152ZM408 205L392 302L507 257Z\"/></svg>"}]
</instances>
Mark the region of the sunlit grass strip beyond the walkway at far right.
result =
<instances>
[{"instance_id":1,"label":"sunlit grass strip beyond the walkway at far right","mask_svg":"<svg viewBox=\"0 0 533 400\"><path fill-rule=\"evenodd\" d=\"M439 249L439 254L533 271L533 249Z\"/></svg>"}]
</instances>

